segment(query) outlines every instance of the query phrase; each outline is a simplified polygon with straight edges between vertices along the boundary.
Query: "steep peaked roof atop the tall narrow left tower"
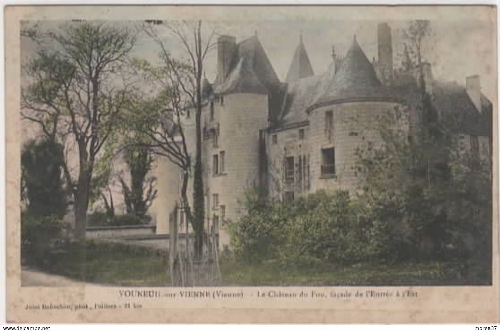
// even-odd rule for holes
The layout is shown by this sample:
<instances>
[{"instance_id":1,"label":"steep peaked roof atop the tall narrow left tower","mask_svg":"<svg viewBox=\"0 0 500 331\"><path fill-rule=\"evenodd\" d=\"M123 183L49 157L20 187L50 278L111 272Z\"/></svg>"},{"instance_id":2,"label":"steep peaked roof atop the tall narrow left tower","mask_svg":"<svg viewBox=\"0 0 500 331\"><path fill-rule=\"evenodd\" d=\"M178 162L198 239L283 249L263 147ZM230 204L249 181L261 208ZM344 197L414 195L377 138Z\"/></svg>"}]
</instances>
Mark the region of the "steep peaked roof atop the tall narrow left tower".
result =
<instances>
[{"instance_id":1,"label":"steep peaked roof atop the tall narrow left tower","mask_svg":"<svg viewBox=\"0 0 500 331\"><path fill-rule=\"evenodd\" d=\"M247 79L245 74L237 72L241 70L244 70L245 74L250 74L251 78ZM235 77L238 77L238 79L247 79L247 81L235 83ZM280 85L276 72L256 35L236 45L229 64L229 74L225 81L217 86L215 92L228 93L227 86L235 84L240 86L238 92L252 93L254 90L263 92L261 86L264 86L269 91ZM250 89L241 89L243 87L250 87Z\"/></svg>"}]
</instances>

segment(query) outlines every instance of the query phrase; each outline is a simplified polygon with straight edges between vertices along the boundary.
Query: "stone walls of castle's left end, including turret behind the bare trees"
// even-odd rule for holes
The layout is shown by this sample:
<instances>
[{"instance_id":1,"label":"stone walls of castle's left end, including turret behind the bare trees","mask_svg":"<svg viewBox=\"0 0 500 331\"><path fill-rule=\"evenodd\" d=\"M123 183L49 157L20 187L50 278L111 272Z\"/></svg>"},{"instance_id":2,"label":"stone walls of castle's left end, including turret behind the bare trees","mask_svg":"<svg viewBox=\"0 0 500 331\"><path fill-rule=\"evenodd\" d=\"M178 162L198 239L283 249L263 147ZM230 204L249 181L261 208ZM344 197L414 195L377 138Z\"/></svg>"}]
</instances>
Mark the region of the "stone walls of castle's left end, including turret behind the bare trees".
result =
<instances>
[{"instance_id":1,"label":"stone walls of castle's left end, including turret behind the bare trees","mask_svg":"<svg viewBox=\"0 0 500 331\"><path fill-rule=\"evenodd\" d=\"M258 183L259 129L267 126L267 111L267 95L250 93L224 95L223 99L215 98L203 106L201 129L205 229L211 230L214 215L217 216L221 247L229 243L229 236L222 226L222 218L237 220L242 212L244 192ZM192 110L190 117L184 119L192 166L195 161L194 118ZM221 152L224 153L223 171L220 171ZM213 155L219 158L217 172L220 173L217 174L214 174ZM157 175L158 196L154 205L157 233L168 233L168 214L180 192L180 170L163 158L158 161ZM213 204L213 194L218 194L218 206ZM192 206L192 176L189 178L187 196ZM221 208L221 205L224 207ZM185 228L179 230L185 231Z\"/></svg>"}]
</instances>

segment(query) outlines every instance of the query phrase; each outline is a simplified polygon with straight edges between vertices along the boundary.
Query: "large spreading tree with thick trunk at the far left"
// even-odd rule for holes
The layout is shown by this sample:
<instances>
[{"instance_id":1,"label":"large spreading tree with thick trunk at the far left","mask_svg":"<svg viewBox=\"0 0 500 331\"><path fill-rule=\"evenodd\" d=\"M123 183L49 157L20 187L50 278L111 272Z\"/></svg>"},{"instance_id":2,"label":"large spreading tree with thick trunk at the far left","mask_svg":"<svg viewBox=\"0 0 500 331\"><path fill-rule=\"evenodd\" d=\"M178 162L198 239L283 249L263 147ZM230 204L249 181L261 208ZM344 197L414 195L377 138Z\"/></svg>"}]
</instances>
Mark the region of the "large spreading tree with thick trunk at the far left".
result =
<instances>
[{"instance_id":1,"label":"large spreading tree with thick trunk at the far left","mask_svg":"<svg viewBox=\"0 0 500 331\"><path fill-rule=\"evenodd\" d=\"M37 38L36 33L27 35ZM67 154L63 169L72 187L75 237L81 243L94 164L127 100L130 84L117 81L134 42L128 30L103 23L65 24L45 33L27 67L30 84L22 89L22 118L37 123L47 137L69 140L77 149L77 177Z\"/></svg>"}]
</instances>

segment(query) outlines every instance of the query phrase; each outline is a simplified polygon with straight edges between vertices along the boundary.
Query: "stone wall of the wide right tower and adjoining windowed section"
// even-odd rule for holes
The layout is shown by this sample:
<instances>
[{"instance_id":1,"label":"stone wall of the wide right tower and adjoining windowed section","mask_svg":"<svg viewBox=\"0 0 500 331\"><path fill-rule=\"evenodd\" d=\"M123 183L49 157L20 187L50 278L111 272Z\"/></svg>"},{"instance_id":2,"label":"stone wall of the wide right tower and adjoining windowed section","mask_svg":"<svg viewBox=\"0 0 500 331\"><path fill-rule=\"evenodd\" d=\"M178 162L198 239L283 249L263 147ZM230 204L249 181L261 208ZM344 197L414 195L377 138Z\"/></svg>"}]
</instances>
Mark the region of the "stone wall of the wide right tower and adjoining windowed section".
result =
<instances>
[{"instance_id":1,"label":"stone wall of the wide right tower and adjoining windowed section","mask_svg":"<svg viewBox=\"0 0 500 331\"><path fill-rule=\"evenodd\" d=\"M332 114L331 125L326 124L326 112ZM361 188L362 177L358 169L358 149L380 147L381 121L395 116L394 129L408 130L408 112L398 103L356 101L332 104L314 109L305 122L267 136L269 155L269 195L273 199L286 198L287 192L300 196L318 189ZM300 139L303 130L303 139ZM333 148L334 173L322 173L322 150ZM298 156L301 155L300 160ZM284 173L285 158L293 156L293 178ZM304 161L305 160L305 161ZM333 168L330 166L330 169ZM328 170L328 167L324 167Z\"/></svg>"}]
</instances>

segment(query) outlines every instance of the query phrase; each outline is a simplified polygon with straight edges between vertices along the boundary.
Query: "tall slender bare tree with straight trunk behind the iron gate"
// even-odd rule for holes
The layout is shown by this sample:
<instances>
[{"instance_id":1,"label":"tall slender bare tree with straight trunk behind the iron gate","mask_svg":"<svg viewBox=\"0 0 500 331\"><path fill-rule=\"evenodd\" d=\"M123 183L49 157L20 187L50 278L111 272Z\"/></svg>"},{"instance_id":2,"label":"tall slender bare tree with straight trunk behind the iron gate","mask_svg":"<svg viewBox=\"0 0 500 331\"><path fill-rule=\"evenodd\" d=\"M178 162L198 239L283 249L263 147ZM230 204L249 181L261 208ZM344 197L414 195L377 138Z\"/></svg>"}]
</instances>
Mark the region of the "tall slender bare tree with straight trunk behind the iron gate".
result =
<instances>
[{"instance_id":1,"label":"tall slender bare tree with straight trunk behind the iron gate","mask_svg":"<svg viewBox=\"0 0 500 331\"><path fill-rule=\"evenodd\" d=\"M181 65L181 62L172 59L164 40L157 32L157 26L164 26L181 43L187 56L186 65ZM205 218L201 158L201 79L205 57L215 45L212 42L215 30L211 29L203 37L201 20L181 22L154 20L146 21L144 31L160 46L161 56L167 67L169 67L169 73L167 74L171 76L171 78L168 78L169 82L173 86L176 86L175 93L179 93L179 96L182 94L180 99L187 100L187 106L193 108L195 111L196 152L193 171L193 212L189 211L187 217L190 219L194 230L194 256L199 258L203 253L203 226ZM181 75L183 76L181 77ZM184 104L185 106L186 104ZM179 127L181 126L179 125ZM190 164L189 157L188 162Z\"/></svg>"}]
</instances>

